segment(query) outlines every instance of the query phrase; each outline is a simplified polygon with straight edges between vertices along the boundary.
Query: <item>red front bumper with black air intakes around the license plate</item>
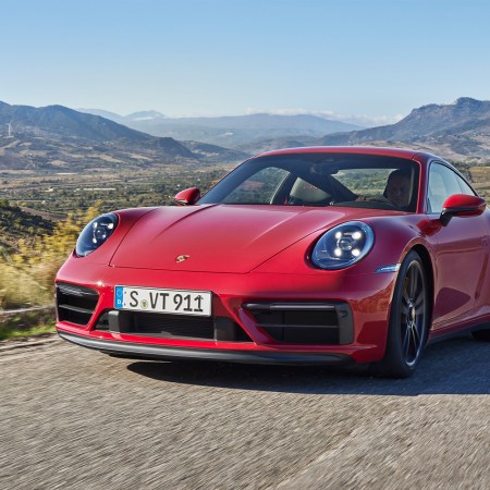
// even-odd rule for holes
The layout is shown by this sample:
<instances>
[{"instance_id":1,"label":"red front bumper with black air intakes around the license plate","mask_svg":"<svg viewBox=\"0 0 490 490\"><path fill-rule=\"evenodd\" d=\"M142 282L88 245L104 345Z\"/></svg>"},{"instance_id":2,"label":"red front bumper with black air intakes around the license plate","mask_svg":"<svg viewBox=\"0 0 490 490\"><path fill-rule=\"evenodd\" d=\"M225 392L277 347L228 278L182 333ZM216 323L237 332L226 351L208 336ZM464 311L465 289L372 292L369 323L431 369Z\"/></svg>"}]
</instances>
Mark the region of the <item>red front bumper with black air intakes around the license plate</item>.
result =
<instances>
[{"instance_id":1,"label":"red front bumper with black air intakes around the license plate","mask_svg":"<svg viewBox=\"0 0 490 490\"><path fill-rule=\"evenodd\" d=\"M63 339L85 347L127 357L260 364L343 364L350 359L368 363L379 360L384 354L394 273L224 274L93 264L81 268L81 265L78 260L69 260L60 270L57 283L95 292L94 308L84 324L59 316L57 329ZM209 326L199 326L199 329L209 328L211 333L207 338L197 339L192 334L182 338L179 322L169 335L126 328L126 314L115 315L113 306L114 286L121 284L212 291L213 317ZM84 309L84 297L88 296L82 297L79 310ZM345 319L339 320L339 335L330 341L328 335L316 335L321 330L317 324L303 324L302 314L296 310L289 320L281 320L287 324L281 323L278 329L274 308L265 311L268 305L279 305L282 310L289 305L298 310L305 305L306 309L323 305L324 309L333 308L339 318ZM119 314L121 318L115 321ZM74 315L76 318L78 314ZM280 315L286 318L284 311ZM106 328L100 327L102 318L108 318ZM303 332L309 332L306 340L301 338Z\"/></svg>"}]
</instances>

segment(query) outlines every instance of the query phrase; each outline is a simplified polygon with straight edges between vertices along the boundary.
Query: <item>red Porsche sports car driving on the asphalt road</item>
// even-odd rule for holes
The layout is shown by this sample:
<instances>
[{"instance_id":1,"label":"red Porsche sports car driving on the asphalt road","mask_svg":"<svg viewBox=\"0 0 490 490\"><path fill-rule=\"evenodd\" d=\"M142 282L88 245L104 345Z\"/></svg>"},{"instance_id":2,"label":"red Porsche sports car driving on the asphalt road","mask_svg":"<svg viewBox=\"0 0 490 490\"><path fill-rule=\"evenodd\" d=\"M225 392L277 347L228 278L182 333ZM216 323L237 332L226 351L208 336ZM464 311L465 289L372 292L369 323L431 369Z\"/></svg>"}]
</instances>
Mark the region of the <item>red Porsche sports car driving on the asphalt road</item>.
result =
<instances>
[{"instance_id":1,"label":"red Porsche sports car driving on the asphalt road","mask_svg":"<svg viewBox=\"0 0 490 490\"><path fill-rule=\"evenodd\" d=\"M258 155L203 197L102 215L56 280L59 334L149 359L369 363L490 340L486 201L450 163L392 148Z\"/></svg>"}]
</instances>

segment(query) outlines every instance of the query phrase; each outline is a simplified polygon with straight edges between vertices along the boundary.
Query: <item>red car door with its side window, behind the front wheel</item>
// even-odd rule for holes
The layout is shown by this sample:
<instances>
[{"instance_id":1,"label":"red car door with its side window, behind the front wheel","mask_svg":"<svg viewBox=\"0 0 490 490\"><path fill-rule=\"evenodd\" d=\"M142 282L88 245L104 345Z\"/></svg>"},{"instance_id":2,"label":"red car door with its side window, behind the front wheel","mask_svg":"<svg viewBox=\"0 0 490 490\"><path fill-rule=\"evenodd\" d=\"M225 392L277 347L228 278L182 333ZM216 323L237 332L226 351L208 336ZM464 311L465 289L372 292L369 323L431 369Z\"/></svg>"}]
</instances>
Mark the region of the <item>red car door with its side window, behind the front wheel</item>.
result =
<instances>
[{"instance_id":1,"label":"red car door with its side window, behind the front wheel","mask_svg":"<svg viewBox=\"0 0 490 490\"><path fill-rule=\"evenodd\" d=\"M431 219L440 216L453 194L476 195L465 180L442 162L429 169L427 206ZM453 218L436 234L433 330L479 315L488 296L485 277L489 269L488 212Z\"/></svg>"}]
</instances>

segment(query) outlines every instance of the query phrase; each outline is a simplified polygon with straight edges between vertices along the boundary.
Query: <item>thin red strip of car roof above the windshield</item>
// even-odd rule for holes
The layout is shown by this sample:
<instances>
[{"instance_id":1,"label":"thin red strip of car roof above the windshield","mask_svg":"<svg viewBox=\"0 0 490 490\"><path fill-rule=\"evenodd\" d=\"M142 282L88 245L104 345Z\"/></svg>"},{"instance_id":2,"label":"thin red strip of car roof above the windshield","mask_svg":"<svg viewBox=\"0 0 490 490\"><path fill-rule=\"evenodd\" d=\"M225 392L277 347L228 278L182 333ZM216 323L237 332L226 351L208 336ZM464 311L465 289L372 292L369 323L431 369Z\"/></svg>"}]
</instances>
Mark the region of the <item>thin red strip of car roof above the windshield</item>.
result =
<instances>
[{"instance_id":1,"label":"thin red strip of car roof above the windshield","mask_svg":"<svg viewBox=\"0 0 490 490\"><path fill-rule=\"evenodd\" d=\"M298 148L283 148L273 151L265 151L256 157L269 157L292 154L353 154L353 155L379 155L384 157L397 157L414 159L415 156L431 157L430 154L404 148L388 148L375 146L309 146Z\"/></svg>"}]
</instances>

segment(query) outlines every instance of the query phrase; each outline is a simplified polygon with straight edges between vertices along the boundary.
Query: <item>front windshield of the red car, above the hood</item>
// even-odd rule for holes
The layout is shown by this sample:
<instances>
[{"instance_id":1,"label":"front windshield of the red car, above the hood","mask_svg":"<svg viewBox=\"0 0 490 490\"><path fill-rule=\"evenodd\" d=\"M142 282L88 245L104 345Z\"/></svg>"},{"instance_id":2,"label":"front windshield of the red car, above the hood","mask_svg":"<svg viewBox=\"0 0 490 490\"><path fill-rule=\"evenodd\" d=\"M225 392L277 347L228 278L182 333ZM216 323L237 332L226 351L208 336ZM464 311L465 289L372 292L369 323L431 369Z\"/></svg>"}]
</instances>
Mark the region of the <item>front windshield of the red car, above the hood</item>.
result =
<instances>
[{"instance_id":1,"label":"front windshield of the red car, above the hood","mask_svg":"<svg viewBox=\"0 0 490 490\"><path fill-rule=\"evenodd\" d=\"M352 154L258 157L240 166L199 204L348 206L414 212L418 164Z\"/></svg>"}]
</instances>

